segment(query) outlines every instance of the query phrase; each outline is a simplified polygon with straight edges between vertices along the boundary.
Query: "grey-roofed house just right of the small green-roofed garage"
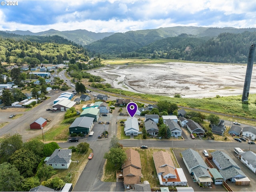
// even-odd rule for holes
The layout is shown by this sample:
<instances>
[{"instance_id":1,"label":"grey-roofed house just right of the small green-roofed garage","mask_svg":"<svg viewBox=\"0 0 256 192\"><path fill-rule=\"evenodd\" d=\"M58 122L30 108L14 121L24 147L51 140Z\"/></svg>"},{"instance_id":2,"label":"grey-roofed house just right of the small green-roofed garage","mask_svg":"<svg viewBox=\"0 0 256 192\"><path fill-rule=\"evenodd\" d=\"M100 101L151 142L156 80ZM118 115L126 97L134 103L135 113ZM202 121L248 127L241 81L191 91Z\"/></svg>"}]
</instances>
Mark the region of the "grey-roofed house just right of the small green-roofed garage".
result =
<instances>
[{"instance_id":1,"label":"grey-roofed house just right of the small green-roofed garage","mask_svg":"<svg viewBox=\"0 0 256 192\"><path fill-rule=\"evenodd\" d=\"M224 181L230 179L232 182L236 182L236 180L246 178L244 172L242 172L238 164L228 154L222 151L214 151L211 154L212 161L220 170Z\"/></svg>"}]
</instances>

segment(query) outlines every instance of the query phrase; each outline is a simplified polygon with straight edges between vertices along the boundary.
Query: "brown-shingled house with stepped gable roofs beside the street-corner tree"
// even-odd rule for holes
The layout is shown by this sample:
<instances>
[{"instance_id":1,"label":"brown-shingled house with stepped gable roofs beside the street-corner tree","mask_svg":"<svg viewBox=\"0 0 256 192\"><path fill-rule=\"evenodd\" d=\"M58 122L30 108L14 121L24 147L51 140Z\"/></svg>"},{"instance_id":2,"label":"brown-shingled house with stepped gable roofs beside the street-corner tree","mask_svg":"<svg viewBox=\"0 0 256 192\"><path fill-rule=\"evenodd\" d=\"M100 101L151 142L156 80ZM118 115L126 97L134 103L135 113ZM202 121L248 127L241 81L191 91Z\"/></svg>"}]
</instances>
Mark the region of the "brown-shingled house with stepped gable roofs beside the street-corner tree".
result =
<instances>
[{"instance_id":1,"label":"brown-shingled house with stepped gable roofs beside the street-corner tree","mask_svg":"<svg viewBox=\"0 0 256 192\"><path fill-rule=\"evenodd\" d=\"M140 154L138 151L130 148L125 151L127 159L122 165L123 178L124 178L124 188L132 189L134 184L141 183L141 162Z\"/></svg>"}]
</instances>

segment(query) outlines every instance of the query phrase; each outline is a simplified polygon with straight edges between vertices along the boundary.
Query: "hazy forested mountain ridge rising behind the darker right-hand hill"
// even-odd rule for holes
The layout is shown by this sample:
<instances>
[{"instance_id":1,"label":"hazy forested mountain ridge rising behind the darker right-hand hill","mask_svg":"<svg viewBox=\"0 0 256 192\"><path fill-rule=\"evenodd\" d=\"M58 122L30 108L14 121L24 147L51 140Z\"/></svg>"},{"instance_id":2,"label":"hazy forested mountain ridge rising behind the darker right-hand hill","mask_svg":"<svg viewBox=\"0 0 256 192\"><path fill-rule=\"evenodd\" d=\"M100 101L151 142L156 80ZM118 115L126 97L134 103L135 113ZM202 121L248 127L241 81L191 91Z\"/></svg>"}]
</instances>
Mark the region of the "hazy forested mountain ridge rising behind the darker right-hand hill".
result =
<instances>
[{"instance_id":1,"label":"hazy forested mountain ridge rising behind the darker right-hand hill","mask_svg":"<svg viewBox=\"0 0 256 192\"><path fill-rule=\"evenodd\" d=\"M236 29L177 26L152 30L129 31L105 37L102 40L86 45L86 48L101 54L124 54L128 52L136 52L136 50L156 42L157 40L175 37L180 34L194 35L195 38L207 40L224 32L239 34L244 31L256 32L256 28Z\"/></svg>"}]
</instances>

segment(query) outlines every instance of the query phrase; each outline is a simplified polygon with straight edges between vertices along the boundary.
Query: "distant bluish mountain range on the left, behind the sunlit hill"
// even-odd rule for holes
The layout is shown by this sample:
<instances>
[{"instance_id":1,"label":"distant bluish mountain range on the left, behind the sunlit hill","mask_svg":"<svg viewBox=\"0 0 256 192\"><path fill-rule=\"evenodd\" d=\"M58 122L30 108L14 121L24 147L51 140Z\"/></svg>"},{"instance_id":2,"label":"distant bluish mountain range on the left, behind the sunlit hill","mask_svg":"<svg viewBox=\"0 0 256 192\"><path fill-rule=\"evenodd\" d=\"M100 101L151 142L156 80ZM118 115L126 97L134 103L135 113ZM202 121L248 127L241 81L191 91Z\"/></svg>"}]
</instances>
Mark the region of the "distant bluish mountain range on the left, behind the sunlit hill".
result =
<instances>
[{"instance_id":1,"label":"distant bluish mountain range on the left, behind the sunlit hill","mask_svg":"<svg viewBox=\"0 0 256 192\"><path fill-rule=\"evenodd\" d=\"M58 31L58 30L54 30L54 29L50 29L48 31L43 31L43 32L38 32L38 33L33 33L30 31L20 31L20 30L5 31L5 32L7 32L9 34L18 34L18 35L22 35L22 36L28 36L28 35L30 35L30 36L56 36L56 35L58 35L60 37L63 37L67 40L70 40L72 42L75 42L76 44L80 44L83 46L114 34L114 33L108 33L108 32L94 33L94 32L90 32L87 30Z\"/></svg>"}]
</instances>

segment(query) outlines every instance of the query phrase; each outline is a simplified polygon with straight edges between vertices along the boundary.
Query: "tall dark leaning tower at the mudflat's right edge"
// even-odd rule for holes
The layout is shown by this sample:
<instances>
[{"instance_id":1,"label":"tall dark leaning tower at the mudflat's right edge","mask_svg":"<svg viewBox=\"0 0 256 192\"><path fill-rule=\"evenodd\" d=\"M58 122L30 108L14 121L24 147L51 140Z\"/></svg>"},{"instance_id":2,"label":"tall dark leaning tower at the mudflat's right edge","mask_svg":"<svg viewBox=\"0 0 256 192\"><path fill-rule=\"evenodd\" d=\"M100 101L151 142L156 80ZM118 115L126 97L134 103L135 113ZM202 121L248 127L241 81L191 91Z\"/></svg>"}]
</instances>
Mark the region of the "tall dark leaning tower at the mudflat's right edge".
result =
<instances>
[{"instance_id":1,"label":"tall dark leaning tower at the mudflat's right edge","mask_svg":"<svg viewBox=\"0 0 256 192\"><path fill-rule=\"evenodd\" d=\"M254 62L254 54L255 54L255 44L250 46L249 55L248 55L248 63L246 69L246 75L244 80L244 90L242 95L242 101L248 101L250 83L252 78L252 67Z\"/></svg>"}]
</instances>

